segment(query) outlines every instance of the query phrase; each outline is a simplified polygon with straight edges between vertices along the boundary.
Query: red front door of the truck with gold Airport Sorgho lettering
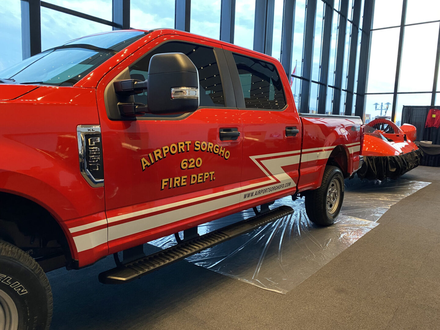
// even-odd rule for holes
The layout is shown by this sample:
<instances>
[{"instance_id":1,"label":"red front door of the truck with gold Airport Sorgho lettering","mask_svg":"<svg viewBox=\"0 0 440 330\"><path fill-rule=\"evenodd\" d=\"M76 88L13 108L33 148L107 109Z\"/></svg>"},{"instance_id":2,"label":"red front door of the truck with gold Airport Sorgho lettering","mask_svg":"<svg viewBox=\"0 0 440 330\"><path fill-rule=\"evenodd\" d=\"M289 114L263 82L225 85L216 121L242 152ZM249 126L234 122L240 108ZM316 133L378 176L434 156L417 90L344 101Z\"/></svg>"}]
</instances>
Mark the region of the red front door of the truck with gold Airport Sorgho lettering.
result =
<instances>
[{"instance_id":1,"label":"red front door of the truck with gold Airport Sorgho lettering","mask_svg":"<svg viewBox=\"0 0 440 330\"><path fill-rule=\"evenodd\" d=\"M98 87L106 100L99 114L110 253L238 211L242 122L224 51L171 39L154 39L157 46L136 51L130 65L110 71L110 81ZM169 52L186 54L197 67L198 110L111 120L118 102L113 81L146 80L151 57ZM147 92L135 102L147 104Z\"/></svg>"}]
</instances>

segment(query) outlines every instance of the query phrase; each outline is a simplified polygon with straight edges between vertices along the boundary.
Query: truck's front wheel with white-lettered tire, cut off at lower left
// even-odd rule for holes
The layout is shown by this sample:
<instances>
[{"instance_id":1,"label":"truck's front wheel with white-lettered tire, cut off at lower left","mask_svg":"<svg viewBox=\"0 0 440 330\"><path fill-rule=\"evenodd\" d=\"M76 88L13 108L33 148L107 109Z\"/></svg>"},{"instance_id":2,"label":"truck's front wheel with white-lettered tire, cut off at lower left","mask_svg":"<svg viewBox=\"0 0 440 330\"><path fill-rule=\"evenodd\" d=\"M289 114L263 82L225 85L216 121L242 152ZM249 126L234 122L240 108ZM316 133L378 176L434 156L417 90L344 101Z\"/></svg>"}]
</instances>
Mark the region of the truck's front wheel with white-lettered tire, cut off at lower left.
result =
<instances>
[{"instance_id":1,"label":"truck's front wheel with white-lettered tire, cut off at lower left","mask_svg":"<svg viewBox=\"0 0 440 330\"><path fill-rule=\"evenodd\" d=\"M48 330L52 291L40 265L18 247L0 241L0 329Z\"/></svg>"}]
</instances>

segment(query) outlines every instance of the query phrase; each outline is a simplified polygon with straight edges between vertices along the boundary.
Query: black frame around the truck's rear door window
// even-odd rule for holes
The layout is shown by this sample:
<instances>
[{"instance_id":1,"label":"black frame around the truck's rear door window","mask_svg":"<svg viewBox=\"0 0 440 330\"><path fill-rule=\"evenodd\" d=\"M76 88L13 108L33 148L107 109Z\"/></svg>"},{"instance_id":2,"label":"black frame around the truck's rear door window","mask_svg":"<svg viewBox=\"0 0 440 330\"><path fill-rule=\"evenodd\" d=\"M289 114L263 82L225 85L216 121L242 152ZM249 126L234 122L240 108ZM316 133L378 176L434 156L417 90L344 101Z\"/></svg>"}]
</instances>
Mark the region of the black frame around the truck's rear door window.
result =
<instances>
[{"instance_id":1,"label":"black frame around the truck's rear door window","mask_svg":"<svg viewBox=\"0 0 440 330\"><path fill-rule=\"evenodd\" d=\"M224 49L224 53L226 55L226 60L227 60L228 66L229 66L229 70L231 72L232 86L234 88L235 102L237 104L238 110L284 111L287 109L287 107L289 106L289 103L288 103L288 100L286 97L286 88L285 88L284 84L282 83L281 75L279 74L279 70L278 70L277 65L274 61L270 61L268 59L262 59L258 56L249 55L249 54L246 54L246 53L239 51L238 49L234 50L234 51ZM246 57L249 57L252 59L258 59L259 61L270 63L275 67L275 72L281 81L281 89L282 89L282 93L284 95L284 101L286 103L282 107L282 109L246 108L245 97L243 94L243 88L242 88L242 84L240 82L240 76L238 74L238 69L237 69L237 65L235 64L235 59L234 59L233 53L240 55L240 56L246 56Z\"/></svg>"}]
</instances>

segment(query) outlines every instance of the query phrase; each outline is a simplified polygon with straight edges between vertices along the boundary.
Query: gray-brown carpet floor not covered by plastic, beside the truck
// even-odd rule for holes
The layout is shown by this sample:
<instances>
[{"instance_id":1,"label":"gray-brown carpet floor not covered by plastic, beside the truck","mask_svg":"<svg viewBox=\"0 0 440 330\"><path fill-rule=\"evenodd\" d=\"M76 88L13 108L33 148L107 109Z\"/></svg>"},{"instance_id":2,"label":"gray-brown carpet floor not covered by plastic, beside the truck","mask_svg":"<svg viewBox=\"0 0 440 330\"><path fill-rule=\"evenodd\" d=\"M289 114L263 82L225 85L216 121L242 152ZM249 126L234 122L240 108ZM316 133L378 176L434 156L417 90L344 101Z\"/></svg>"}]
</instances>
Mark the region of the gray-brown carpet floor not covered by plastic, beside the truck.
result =
<instances>
[{"instance_id":1,"label":"gray-brown carpet floor not covered by plastic, beside the truck","mask_svg":"<svg viewBox=\"0 0 440 330\"><path fill-rule=\"evenodd\" d=\"M125 285L100 284L107 257L48 273L51 329L440 329L440 168L403 179L429 186L287 294L179 261Z\"/></svg>"}]
</instances>

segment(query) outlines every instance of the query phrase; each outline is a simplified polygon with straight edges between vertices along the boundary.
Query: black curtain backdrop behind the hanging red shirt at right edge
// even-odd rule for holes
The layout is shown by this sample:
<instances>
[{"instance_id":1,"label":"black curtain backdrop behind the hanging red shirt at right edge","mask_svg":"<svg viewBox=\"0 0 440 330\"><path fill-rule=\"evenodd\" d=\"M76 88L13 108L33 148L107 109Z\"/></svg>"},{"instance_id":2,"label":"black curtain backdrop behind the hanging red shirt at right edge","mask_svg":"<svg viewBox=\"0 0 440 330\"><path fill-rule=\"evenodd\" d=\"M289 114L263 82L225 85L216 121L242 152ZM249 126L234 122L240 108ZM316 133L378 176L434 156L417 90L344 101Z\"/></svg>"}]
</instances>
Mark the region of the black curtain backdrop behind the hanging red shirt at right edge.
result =
<instances>
[{"instance_id":1,"label":"black curtain backdrop behind the hanging red shirt at right edge","mask_svg":"<svg viewBox=\"0 0 440 330\"><path fill-rule=\"evenodd\" d=\"M411 124L417 128L416 141L433 141L433 144L440 144L440 128L425 128L429 109L432 108L440 109L440 106L403 106L402 124ZM440 156L425 153L420 165L440 166Z\"/></svg>"}]
</instances>

